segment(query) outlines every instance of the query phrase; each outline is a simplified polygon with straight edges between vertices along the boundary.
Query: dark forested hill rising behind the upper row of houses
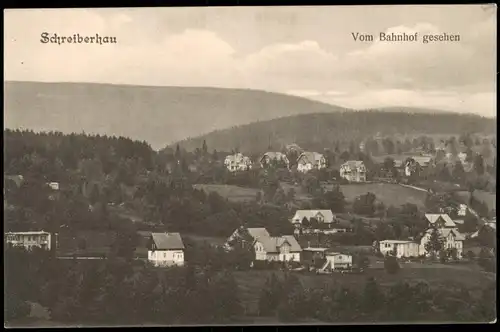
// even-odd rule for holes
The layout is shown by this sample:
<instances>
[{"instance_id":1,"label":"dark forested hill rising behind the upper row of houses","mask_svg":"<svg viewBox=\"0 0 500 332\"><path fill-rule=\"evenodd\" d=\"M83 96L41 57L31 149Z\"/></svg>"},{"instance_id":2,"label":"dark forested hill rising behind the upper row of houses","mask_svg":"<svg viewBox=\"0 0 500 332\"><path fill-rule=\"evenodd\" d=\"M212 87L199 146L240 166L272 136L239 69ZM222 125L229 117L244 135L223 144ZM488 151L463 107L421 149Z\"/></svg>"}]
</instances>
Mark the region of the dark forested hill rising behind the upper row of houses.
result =
<instances>
[{"instance_id":1,"label":"dark forested hill rising behind the upper row of houses","mask_svg":"<svg viewBox=\"0 0 500 332\"><path fill-rule=\"evenodd\" d=\"M245 153L262 152L271 145L280 150L296 143L304 149L322 151L335 142L384 135L460 135L466 132L491 135L495 119L457 113L402 113L387 111L351 111L296 115L261 121L179 142L187 150L201 147L206 140L210 149Z\"/></svg>"}]
</instances>

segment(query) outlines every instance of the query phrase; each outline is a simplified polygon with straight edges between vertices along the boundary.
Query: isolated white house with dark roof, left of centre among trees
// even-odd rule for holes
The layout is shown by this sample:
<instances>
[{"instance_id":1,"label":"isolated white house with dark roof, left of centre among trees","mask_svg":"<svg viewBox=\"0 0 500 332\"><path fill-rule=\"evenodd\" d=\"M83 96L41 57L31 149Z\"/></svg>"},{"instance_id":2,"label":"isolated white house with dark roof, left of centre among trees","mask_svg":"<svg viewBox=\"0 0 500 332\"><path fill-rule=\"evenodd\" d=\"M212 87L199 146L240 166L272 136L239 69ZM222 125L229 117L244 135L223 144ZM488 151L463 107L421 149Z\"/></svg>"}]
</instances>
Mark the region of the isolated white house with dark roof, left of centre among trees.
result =
<instances>
[{"instance_id":1,"label":"isolated white house with dark roof, left of centre among trees","mask_svg":"<svg viewBox=\"0 0 500 332\"><path fill-rule=\"evenodd\" d=\"M184 249L179 233L151 233L148 261L154 266L183 266Z\"/></svg>"}]
</instances>

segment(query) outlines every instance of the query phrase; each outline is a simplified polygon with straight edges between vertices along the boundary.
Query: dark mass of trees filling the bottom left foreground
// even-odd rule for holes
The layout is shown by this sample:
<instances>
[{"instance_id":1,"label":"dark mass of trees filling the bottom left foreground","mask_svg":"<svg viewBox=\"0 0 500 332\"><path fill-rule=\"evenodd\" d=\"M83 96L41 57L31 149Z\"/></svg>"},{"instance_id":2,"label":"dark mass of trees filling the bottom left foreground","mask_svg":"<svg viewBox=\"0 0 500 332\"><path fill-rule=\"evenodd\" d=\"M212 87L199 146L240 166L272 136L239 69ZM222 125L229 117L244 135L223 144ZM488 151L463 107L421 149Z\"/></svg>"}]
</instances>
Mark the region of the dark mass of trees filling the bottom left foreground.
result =
<instances>
[{"instance_id":1,"label":"dark mass of trees filling the bottom left foreground","mask_svg":"<svg viewBox=\"0 0 500 332\"><path fill-rule=\"evenodd\" d=\"M242 306L231 270L193 261L156 269L118 258L58 260L41 250L6 246L6 321L29 315L27 301L48 308L55 322L86 326L235 321Z\"/></svg>"}]
</instances>

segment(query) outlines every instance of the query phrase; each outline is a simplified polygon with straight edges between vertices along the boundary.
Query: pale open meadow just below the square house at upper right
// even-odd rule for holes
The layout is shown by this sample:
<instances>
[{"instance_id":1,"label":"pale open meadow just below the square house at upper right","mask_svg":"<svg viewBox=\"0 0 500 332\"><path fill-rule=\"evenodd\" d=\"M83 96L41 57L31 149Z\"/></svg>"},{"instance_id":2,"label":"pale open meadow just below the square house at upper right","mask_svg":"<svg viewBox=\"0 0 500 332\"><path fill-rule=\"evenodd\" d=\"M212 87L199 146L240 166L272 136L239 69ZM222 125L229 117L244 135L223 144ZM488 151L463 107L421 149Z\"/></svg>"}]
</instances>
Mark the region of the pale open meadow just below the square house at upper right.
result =
<instances>
[{"instance_id":1,"label":"pale open meadow just below the square house at upper right","mask_svg":"<svg viewBox=\"0 0 500 332\"><path fill-rule=\"evenodd\" d=\"M331 190L333 185L325 185L324 187L327 190ZM423 191L391 183L345 184L340 185L340 188L347 201L352 202L356 197L371 192L386 206L392 205L395 207L399 207L405 203L412 203L419 208L423 208L427 195Z\"/></svg>"}]
</instances>

